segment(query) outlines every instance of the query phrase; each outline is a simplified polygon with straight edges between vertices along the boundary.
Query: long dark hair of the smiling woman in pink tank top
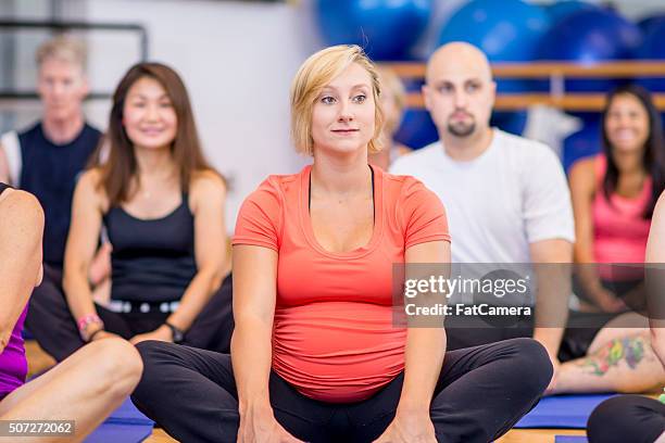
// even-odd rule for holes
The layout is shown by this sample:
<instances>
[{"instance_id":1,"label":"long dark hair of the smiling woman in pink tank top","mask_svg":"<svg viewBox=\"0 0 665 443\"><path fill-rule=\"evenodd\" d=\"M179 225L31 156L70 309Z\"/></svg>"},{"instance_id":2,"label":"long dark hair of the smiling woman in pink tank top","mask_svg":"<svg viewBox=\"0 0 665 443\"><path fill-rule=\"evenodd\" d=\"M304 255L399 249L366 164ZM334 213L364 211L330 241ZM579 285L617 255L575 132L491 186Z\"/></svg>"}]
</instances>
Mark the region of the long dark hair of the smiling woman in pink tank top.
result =
<instances>
[{"instance_id":1,"label":"long dark hair of the smiling woman in pink tank top","mask_svg":"<svg viewBox=\"0 0 665 443\"><path fill-rule=\"evenodd\" d=\"M607 103L605 104L601 119L603 151L607 159L607 169L605 172L605 177L603 177L603 193L605 199L610 201L610 195L614 193L618 183L619 172L614 161L614 156L612 155L613 148L607 138L605 122L607 121L607 114L612 106L612 102L617 96L622 94L630 94L638 99L649 116L649 136L644 142L642 166L652 181L651 199L643 213L643 217L650 219L653 215L653 208L655 207L656 201L665 188L665 143L663 141L661 115L651 100L651 94L638 85L623 85L607 94Z\"/></svg>"}]
</instances>

